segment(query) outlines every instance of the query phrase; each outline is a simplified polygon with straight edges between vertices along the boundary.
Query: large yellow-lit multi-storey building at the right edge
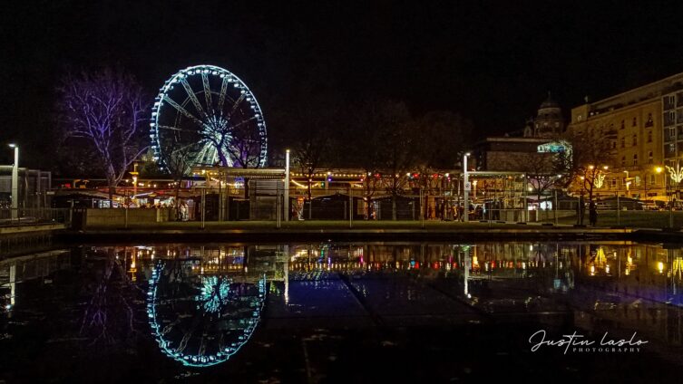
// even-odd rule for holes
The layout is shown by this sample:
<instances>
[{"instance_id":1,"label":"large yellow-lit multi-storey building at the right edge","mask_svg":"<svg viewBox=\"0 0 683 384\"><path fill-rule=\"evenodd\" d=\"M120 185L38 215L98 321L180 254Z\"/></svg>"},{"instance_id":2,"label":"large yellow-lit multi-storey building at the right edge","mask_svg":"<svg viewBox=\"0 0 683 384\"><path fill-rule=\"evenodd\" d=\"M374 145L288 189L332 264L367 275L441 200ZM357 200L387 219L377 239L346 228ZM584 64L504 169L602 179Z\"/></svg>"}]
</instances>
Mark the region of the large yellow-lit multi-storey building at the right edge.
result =
<instances>
[{"instance_id":1,"label":"large yellow-lit multi-storey building at the right edge","mask_svg":"<svg viewBox=\"0 0 683 384\"><path fill-rule=\"evenodd\" d=\"M568 130L605 144L610 169L599 195L666 198L671 187L663 166L683 155L683 73L587 101L571 110Z\"/></svg>"}]
</instances>

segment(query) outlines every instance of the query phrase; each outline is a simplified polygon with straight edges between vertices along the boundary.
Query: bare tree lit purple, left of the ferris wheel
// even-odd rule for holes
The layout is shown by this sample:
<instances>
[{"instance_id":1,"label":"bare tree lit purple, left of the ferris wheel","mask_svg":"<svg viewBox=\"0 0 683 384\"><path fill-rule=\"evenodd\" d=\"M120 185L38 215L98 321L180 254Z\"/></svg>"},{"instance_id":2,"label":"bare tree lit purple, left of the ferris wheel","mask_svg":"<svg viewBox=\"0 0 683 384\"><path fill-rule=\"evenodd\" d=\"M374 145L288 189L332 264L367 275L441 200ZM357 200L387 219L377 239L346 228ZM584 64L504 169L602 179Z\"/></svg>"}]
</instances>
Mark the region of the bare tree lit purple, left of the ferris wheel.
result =
<instances>
[{"instance_id":1,"label":"bare tree lit purple, left of the ferris wheel","mask_svg":"<svg viewBox=\"0 0 683 384\"><path fill-rule=\"evenodd\" d=\"M132 162L147 149L141 145L148 106L141 87L132 76L105 69L67 75L57 91L64 136L85 139L95 150L111 201Z\"/></svg>"}]
</instances>

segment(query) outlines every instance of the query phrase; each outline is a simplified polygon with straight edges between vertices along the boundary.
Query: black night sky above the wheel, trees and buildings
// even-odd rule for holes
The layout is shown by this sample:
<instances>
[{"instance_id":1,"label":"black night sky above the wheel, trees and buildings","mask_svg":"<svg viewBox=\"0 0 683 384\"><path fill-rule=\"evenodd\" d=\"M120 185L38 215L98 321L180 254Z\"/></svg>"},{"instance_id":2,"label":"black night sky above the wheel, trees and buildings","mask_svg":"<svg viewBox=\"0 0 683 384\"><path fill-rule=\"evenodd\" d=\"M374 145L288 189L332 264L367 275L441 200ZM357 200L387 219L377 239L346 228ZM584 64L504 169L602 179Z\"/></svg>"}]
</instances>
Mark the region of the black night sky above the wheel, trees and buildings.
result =
<instances>
[{"instance_id":1,"label":"black night sky above the wheel, trees and buildings","mask_svg":"<svg viewBox=\"0 0 683 384\"><path fill-rule=\"evenodd\" d=\"M222 66L267 121L306 103L294 96L304 84L341 103L454 110L481 135L521 129L549 90L568 116L584 95L683 72L675 1L25 0L0 12L0 143L20 142L34 167L50 153L56 82L102 65L151 98L181 68Z\"/></svg>"}]
</instances>

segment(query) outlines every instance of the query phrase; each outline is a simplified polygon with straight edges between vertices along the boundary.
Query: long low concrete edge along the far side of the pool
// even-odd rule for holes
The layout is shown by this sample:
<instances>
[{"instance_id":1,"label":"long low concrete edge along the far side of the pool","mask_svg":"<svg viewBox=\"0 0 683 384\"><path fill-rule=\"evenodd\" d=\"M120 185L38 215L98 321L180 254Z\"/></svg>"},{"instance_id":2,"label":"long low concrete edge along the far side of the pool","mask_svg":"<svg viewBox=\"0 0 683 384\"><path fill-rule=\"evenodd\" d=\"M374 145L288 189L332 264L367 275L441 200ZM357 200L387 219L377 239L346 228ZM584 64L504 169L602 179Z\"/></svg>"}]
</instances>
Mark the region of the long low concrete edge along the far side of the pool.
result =
<instances>
[{"instance_id":1,"label":"long low concrete edge along the far side of the pool","mask_svg":"<svg viewBox=\"0 0 683 384\"><path fill-rule=\"evenodd\" d=\"M150 243L150 242L300 242L300 241L628 241L633 231L626 228L571 226L526 226L480 224L428 228L343 228L343 227L220 227L88 228L65 231L58 239L66 243ZM683 238L682 238L683 239ZM656 241L656 240L654 240Z\"/></svg>"}]
</instances>

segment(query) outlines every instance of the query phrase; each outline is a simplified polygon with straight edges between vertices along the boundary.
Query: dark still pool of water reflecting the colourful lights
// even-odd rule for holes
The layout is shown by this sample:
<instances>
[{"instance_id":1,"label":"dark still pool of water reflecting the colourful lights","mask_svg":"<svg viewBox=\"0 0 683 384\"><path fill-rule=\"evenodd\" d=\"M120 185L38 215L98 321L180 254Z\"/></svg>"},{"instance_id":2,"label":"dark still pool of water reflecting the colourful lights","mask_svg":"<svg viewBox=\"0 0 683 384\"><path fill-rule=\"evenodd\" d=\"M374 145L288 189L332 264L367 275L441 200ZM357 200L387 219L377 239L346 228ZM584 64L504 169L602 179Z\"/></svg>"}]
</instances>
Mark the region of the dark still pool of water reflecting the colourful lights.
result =
<instances>
[{"instance_id":1,"label":"dark still pool of water reflecting the colourful lights","mask_svg":"<svg viewBox=\"0 0 683 384\"><path fill-rule=\"evenodd\" d=\"M0 261L0 379L679 379L682 269L624 243L57 249Z\"/></svg>"}]
</instances>

